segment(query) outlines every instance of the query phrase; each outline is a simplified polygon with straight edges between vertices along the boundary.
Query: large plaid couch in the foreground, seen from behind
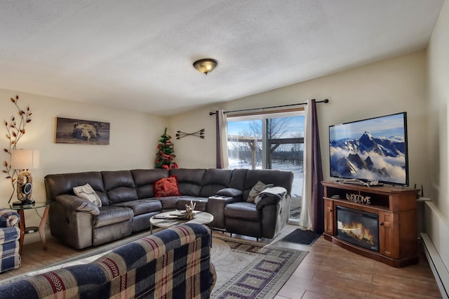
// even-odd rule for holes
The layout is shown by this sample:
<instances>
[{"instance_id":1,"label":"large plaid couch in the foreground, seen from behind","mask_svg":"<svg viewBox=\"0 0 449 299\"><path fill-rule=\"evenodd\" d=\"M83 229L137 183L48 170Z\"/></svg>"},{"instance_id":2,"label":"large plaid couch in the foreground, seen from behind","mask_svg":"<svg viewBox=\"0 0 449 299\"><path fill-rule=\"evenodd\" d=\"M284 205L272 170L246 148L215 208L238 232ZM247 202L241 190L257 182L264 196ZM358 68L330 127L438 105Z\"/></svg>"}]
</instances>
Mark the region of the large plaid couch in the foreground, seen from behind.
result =
<instances>
[{"instance_id":1,"label":"large plaid couch in the foreground, seen from behind","mask_svg":"<svg viewBox=\"0 0 449 299\"><path fill-rule=\"evenodd\" d=\"M0 298L209 298L211 234L179 225L74 265L0 286Z\"/></svg>"}]
</instances>

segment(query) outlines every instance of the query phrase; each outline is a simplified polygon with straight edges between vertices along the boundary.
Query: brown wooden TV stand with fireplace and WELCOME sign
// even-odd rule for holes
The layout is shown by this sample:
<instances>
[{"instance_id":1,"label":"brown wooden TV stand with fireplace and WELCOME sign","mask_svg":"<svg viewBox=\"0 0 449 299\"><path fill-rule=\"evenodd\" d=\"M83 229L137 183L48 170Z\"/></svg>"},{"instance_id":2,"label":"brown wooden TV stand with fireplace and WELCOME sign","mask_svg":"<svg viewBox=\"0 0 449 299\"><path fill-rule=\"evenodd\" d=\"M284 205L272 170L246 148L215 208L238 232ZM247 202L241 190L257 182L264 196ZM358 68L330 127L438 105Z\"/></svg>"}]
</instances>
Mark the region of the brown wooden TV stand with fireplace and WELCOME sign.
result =
<instances>
[{"instance_id":1,"label":"brown wooden TV stand with fireplace and WELCOME sign","mask_svg":"<svg viewBox=\"0 0 449 299\"><path fill-rule=\"evenodd\" d=\"M417 194L406 187L366 187L323 181L324 238L349 251L373 258L392 267L418 261ZM370 204L347 200L347 194L370 197ZM340 197L340 199L335 198ZM337 206L379 215L379 252L362 248L337 237Z\"/></svg>"}]
</instances>

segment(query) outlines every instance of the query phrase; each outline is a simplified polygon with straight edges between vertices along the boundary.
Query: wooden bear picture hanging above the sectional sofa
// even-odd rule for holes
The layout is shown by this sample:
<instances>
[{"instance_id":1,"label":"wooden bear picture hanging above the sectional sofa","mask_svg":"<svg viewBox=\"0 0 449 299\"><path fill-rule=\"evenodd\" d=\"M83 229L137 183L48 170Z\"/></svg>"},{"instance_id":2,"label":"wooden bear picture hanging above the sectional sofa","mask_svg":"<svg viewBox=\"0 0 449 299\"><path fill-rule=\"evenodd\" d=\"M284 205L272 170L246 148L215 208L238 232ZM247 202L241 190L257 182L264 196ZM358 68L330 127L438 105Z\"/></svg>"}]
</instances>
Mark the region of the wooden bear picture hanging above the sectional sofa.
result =
<instances>
[{"instance_id":1,"label":"wooden bear picture hanging above the sectional sofa","mask_svg":"<svg viewBox=\"0 0 449 299\"><path fill-rule=\"evenodd\" d=\"M55 142L81 145L109 145L110 124L103 121L56 117Z\"/></svg>"}]
</instances>

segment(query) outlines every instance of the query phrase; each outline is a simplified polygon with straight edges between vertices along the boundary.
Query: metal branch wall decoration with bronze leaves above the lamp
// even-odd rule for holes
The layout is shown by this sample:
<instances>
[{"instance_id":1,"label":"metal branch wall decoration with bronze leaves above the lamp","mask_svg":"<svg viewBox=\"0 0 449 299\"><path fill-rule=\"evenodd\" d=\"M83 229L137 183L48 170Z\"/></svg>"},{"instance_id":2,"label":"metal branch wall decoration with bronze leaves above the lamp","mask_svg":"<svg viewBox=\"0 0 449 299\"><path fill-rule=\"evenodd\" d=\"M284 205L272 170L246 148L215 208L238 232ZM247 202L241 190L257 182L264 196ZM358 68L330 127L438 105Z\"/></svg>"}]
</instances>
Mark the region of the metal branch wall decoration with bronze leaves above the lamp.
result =
<instances>
[{"instance_id":1,"label":"metal branch wall decoration with bronze leaves above the lamp","mask_svg":"<svg viewBox=\"0 0 449 299\"><path fill-rule=\"evenodd\" d=\"M9 141L9 146L7 148L4 148L4 152L7 152L9 154L9 161L11 163L11 152L17 148L17 144L19 140L22 138L23 135L25 135L25 126L31 122L31 116L32 112L27 107L27 109L24 111L22 110L19 105L19 96L16 95L15 99L11 98L11 102L14 103L15 107L18 109L19 117L16 119L16 117L11 116L11 119L8 123L8 121L5 121L6 131L8 132L6 134L6 138ZM6 178L8 180L11 180L11 185L13 186L13 193L11 194L11 197L9 197L9 201L13 198L13 195L15 193L15 181L18 177L18 171L11 168L11 164L8 163L8 161L3 162L4 166L4 173L7 173Z\"/></svg>"}]
</instances>

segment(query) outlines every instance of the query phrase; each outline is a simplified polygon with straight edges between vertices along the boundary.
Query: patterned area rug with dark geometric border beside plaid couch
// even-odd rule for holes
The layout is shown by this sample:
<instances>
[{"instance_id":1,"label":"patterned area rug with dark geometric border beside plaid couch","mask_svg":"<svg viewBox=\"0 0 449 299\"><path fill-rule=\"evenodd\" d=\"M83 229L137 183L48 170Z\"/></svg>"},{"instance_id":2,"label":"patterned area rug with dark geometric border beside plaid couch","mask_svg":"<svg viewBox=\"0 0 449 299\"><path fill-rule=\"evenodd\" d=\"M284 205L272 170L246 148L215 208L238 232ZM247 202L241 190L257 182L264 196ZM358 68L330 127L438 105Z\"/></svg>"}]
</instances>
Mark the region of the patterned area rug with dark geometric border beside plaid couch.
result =
<instances>
[{"instance_id":1,"label":"patterned area rug with dark geometric border beside plaid couch","mask_svg":"<svg viewBox=\"0 0 449 299\"><path fill-rule=\"evenodd\" d=\"M220 242L230 250L220 260L213 258L217 282L210 298L274 298L307 255L306 251L216 235L213 250Z\"/></svg>"}]
</instances>

